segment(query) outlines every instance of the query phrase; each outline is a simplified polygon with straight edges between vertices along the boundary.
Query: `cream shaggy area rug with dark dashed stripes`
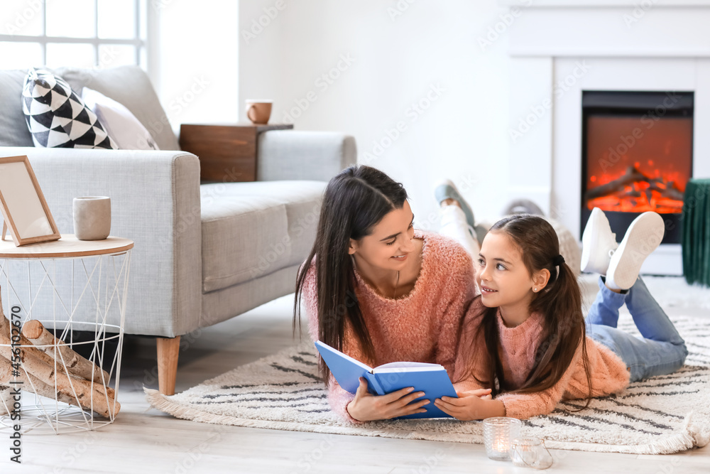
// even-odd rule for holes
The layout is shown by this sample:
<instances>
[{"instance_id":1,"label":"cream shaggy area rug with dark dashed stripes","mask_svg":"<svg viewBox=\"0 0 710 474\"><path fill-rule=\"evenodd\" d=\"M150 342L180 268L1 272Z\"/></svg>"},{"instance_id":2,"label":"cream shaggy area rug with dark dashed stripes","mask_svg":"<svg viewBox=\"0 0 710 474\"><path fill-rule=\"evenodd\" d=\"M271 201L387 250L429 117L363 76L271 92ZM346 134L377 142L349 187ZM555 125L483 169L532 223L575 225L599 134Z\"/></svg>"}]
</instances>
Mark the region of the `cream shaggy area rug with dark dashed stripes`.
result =
<instances>
[{"instance_id":1,"label":"cream shaggy area rug with dark dashed stripes","mask_svg":"<svg viewBox=\"0 0 710 474\"><path fill-rule=\"evenodd\" d=\"M631 384L611 397L564 402L548 416L524 421L529 436L547 446L581 451L658 454L704 446L710 440L710 321L676 318L690 355L679 372ZM630 318L620 327L633 332ZM353 426L329 409L317 376L312 343L264 357L166 397L146 389L156 409L212 424L361 436L482 443L479 421L425 419Z\"/></svg>"}]
</instances>

